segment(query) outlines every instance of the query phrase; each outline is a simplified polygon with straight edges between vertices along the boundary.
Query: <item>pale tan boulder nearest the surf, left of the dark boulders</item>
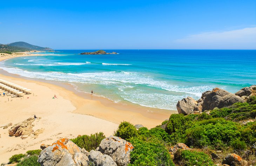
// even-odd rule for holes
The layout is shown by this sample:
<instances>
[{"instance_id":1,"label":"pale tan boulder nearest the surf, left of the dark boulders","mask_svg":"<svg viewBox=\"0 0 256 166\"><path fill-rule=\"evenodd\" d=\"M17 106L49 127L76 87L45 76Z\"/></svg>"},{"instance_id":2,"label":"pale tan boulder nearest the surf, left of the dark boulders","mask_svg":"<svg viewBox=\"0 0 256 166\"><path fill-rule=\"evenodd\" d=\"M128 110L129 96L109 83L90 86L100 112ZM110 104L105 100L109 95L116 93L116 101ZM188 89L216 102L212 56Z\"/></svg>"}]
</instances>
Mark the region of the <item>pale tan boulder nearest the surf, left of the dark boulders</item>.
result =
<instances>
[{"instance_id":1,"label":"pale tan boulder nearest the surf, left of the dark boulders","mask_svg":"<svg viewBox=\"0 0 256 166\"><path fill-rule=\"evenodd\" d=\"M191 114L195 111L198 113L202 111L202 103L203 101L200 100L199 103L197 103L196 100L194 100L192 97L183 98L182 100L178 101L176 107L179 114Z\"/></svg>"}]
</instances>

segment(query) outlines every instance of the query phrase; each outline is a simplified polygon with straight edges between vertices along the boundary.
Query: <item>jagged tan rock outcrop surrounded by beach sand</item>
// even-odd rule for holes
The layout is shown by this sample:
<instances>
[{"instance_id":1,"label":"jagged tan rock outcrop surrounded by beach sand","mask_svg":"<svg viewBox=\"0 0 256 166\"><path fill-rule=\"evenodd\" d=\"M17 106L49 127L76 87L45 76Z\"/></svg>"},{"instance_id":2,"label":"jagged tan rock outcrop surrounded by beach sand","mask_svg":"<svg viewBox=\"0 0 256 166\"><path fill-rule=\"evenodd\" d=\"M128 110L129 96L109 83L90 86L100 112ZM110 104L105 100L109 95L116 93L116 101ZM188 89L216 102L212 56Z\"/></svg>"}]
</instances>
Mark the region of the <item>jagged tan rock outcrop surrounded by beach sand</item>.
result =
<instances>
[{"instance_id":1,"label":"jagged tan rock outcrop surrounded by beach sand","mask_svg":"<svg viewBox=\"0 0 256 166\"><path fill-rule=\"evenodd\" d=\"M33 125L32 122L34 122L34 118L28 118L27 120L15 124L10 130L9 135L10 136L22 136L22 138L26 138L27 136L31 135L33 133Z\"/></svg>"}]
</instances>

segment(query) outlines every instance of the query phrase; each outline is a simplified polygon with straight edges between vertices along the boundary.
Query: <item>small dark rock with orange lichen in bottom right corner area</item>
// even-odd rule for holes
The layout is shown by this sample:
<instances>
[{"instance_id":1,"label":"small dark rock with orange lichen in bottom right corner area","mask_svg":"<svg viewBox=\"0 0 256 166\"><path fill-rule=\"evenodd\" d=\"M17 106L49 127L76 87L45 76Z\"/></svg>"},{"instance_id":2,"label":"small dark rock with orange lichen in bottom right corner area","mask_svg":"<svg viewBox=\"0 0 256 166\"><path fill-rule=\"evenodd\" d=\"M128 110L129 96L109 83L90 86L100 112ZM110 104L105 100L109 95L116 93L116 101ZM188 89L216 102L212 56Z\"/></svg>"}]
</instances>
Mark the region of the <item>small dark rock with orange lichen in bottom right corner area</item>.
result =
<instances>
[{"instance_id":1,"label":"small dark rock with orange lichen in bottom right corner area","mask_svg":"<svg viewBox=\"0 0 256 166\"><path fill-rule=\"evenodd\" d=\"M228 156L226 156L223 159L222 164L244 166L244 165L247 165L248 163L237 154L231 153L231 154L228 154Z\"/></svg>"}]
</instances>

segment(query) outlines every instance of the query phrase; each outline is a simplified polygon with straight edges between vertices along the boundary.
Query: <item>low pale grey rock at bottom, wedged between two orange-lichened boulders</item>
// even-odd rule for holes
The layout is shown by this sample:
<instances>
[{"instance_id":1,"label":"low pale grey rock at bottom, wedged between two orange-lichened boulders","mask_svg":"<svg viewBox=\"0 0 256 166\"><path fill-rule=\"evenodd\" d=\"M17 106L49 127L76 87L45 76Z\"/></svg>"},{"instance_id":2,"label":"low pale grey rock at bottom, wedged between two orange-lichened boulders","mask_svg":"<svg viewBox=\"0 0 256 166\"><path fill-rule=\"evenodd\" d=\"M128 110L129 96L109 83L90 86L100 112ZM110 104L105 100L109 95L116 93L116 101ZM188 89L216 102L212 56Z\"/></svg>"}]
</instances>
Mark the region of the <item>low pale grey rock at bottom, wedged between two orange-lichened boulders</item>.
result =
<instances>
[{"instance_id":1,"label":"low pale grey rock at bottom, wedged between two orange-lichened boulders","mask_svg":"<svg viewBox=\"0 0 256 166\"><path fill-rule=\"evenodd\" d=\"M88 158L94 166L117 166L110 156L102 154L100 151L91 150Z\"/></svg>"}]
</instances>

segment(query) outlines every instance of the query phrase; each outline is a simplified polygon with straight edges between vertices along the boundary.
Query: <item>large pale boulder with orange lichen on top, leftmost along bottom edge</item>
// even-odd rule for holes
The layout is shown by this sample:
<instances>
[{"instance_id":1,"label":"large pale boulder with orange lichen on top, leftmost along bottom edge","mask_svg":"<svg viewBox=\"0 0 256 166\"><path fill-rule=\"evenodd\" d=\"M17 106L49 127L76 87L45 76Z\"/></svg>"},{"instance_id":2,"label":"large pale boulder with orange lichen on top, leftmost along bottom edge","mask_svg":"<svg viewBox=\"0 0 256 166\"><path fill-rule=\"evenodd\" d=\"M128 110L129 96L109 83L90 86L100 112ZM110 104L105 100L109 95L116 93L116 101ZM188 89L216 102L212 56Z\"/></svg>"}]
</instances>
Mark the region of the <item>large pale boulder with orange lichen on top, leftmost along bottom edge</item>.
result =
<instances>
[{"instance_id":1,"label":"large pale boulder with orange lichen on top, leftmost along bottom edge","mask_svg":"<svg viewBox=\"0 0 256 166\"><path fill-rule=\"evenodd\" d=\"M43 149L38 162L41 166L87 166L88 157L82 149L67 138L61 138Z\"/></svg>"}]
</instances>

